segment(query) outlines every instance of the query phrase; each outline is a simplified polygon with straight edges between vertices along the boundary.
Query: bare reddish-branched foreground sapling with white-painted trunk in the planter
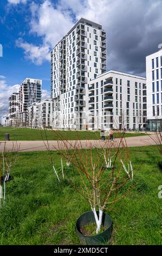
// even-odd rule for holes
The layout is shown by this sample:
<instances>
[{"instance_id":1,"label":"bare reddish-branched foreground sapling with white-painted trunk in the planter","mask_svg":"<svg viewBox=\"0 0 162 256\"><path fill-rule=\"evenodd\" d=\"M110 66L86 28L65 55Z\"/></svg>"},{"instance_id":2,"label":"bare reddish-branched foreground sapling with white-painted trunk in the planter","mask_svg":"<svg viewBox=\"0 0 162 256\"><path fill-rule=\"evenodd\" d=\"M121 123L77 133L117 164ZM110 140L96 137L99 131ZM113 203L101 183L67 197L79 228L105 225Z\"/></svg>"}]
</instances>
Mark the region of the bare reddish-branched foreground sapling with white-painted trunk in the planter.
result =
<instances>
[{"instance_id":1,"label":"bare reddish-branched foreground sapling with white-painted trunk in the planter","mask_svg":"<svg viewBox=\"0 0 162 256\"><path fill-rule=\"evenodd\" d=\"M89 149L84 149L82 141L68 141L59 131L56 133L59 138L58 145L53 147L59 151L61 158L73 164L74 174L79 175L79 179L71 181L71 184L94 212L98 234L101 230L103 211L111 210L133 187L131 184L128 190L120 190L130 182L130 178L133 179L133 167L126 139L120 134L120 138L114 139L113 143L109 140L99 145L87 143ZM112 167L109 172L103 168L105 164Z\"/></svg>"}]
</instances>

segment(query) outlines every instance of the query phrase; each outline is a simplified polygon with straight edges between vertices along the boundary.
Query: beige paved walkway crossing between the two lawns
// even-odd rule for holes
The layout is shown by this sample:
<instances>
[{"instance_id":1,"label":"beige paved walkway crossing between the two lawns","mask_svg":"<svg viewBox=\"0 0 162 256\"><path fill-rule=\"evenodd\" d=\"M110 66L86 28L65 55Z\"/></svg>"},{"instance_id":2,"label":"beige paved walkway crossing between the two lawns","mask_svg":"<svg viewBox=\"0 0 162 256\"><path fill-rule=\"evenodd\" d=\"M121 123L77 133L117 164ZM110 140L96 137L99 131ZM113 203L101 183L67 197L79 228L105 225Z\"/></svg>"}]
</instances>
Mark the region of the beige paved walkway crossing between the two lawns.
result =
<instances>
[{"instance_id":1,"label":"beige paved walkway crossing between the two lawns","mask_svg":"<svg viewBox=\"0 0 162 256\"><path fill-rule=\"evenodd\" d=\"M151 135L152 138L155 138L155 135ZM114 147L116 147L117 142L119 142L120 139L114 139ZM146 145L155 145L155 142L149 137L149 136L138 136L138 137L128 137L126 138L127 146L128 147L142 147ZM4 144L5 148L7 151L12 151L13 149L13 141L7 141L1 142L2 149L4 149ZM76 141L70 141L72 145L76 143ZM82 145L80 145L79 142L78 146L79 148L91 148L91 147L97 147L101 148L104 147L104 142L100 140L89 140L89 141L81 141ZM46 142L47 144L47 142ZM58 148L60 149L65 149L65 145L61 141L48 141L49 144L49 149L50 150L57 150ZM43 151L47 150L45 144L43 141L18 141L17 145L19 148L20 152L23 151Z\"/></svg>"}]
</instances>

